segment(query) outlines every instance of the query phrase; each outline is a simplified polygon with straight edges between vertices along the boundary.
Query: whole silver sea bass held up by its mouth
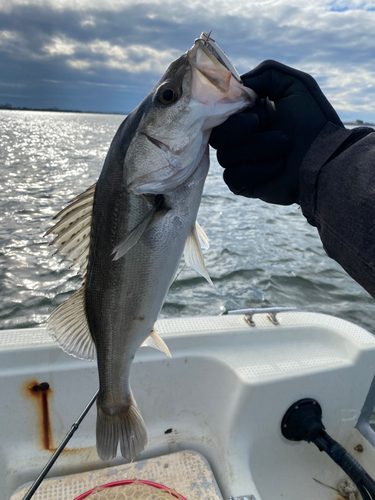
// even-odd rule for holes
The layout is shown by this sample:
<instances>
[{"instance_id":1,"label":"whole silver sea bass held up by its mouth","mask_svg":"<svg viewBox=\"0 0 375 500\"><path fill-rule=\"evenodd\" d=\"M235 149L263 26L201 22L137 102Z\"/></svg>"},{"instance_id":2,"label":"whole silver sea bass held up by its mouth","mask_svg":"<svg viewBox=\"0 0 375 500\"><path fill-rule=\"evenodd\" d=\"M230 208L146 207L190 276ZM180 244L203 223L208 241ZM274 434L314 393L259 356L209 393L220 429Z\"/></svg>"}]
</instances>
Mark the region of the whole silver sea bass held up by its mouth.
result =
<instances>
[{"instance_id":1,"label":"whole silver sea bass held up by its mouth","mask_svg":"<svg viewBox=\"0 0 375 500\"><path fill-rule=\"evenodd\" d=\"M134 460L147 430L129 374L137 349L169 350L154 324L184 252L208 281L196 223L213 127L253 104L224 53L208 35L167 69L120 125L99 180L72 200L48 233L57 252L80 266L82 286L49 317L47 330L67 353L97 357L96 446L118 445Z\"/></svg>"}]
</instances>

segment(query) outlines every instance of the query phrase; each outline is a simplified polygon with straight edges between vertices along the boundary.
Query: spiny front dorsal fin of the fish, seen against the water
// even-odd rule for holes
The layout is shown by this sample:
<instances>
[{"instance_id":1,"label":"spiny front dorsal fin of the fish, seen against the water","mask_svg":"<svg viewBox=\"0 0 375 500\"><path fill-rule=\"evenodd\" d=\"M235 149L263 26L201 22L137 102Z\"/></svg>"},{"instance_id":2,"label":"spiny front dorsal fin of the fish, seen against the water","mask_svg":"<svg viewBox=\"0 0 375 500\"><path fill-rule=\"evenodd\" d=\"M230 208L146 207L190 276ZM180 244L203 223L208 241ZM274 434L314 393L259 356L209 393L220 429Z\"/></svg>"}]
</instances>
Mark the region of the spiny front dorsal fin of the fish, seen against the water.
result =
<instances>
[{"instance_id":1,"label":"spiny front dorsal fin of the fish, seen against the water","mask_svg":"<svg viewBox=\"0 0 375 500\"><path fill-rule=\"evenodd\" d=\"M92 208L94 204L96 183L74 198L54 218L60 219L45 235L54 234L50 243L56 245L56 253L65 255L64 259L72 260L72 266L78 264L79 272L86 274L90 247Z\"/></svg>"}]
</instances>

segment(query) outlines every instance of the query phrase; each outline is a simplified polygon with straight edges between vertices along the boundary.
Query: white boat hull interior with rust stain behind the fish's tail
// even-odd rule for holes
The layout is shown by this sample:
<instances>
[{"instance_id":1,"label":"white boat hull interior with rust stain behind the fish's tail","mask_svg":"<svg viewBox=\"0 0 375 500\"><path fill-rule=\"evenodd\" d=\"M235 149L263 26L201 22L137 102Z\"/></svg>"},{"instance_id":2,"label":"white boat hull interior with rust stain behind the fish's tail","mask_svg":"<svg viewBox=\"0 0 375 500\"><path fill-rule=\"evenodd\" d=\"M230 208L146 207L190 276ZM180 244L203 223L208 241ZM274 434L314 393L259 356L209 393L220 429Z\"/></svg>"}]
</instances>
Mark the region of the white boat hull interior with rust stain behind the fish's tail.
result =
<instances>
[{"instance_id":1,"label":"white boat hull interior with rust stain behind the fish's tail","mask_svg":"<svg viewBox=\"0 0 375 500\"><path fill-rule=\"evenodd\" d=\"M330 316L277 317L278 326L265 314L254 317L255 327L243 316L157 323L173 358L142 348L132 367L149 432L140 460L200 453L226 500L335 500L337 492L314 479L335 487L344 474L313 445L289 442L280 430L289 406L311 397L327 432L374 474L374 449L355 425L374 376L375 337ZM66 355L43 329L0 332L0 373L0 499L8 500L36 478L98 380L96 363ZM43 382L50 386L44 401L32 391ZM49 477L123 464L121 457L98 459L95 419L92 409ZM354 449L359 444L363 452Z\"/></svg>"}]
</instances>

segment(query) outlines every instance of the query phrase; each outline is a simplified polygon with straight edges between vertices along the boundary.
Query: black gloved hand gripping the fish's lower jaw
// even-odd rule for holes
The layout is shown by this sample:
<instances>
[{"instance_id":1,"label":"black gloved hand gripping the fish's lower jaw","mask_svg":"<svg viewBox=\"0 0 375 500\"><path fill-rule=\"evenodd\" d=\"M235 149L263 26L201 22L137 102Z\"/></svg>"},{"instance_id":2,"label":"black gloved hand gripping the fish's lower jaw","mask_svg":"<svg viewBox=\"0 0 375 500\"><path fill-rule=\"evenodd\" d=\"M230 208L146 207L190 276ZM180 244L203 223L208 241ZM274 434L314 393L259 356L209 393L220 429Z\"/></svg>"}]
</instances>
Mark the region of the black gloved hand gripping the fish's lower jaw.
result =
<instances>
[{"instance_id":1,"label":"black gloved hand gripping the fish's lower jaw","mask_svg":"<svg viewBox=\"0 0 375 500\"><path fill-rule=\"evenodd\" d=\"M265 61L242 76L261 98L213 129L210 144L235 194L290 205L299 201L299 169L328 122L344 128L307 73Z\"/></svg>"}]
</instances>

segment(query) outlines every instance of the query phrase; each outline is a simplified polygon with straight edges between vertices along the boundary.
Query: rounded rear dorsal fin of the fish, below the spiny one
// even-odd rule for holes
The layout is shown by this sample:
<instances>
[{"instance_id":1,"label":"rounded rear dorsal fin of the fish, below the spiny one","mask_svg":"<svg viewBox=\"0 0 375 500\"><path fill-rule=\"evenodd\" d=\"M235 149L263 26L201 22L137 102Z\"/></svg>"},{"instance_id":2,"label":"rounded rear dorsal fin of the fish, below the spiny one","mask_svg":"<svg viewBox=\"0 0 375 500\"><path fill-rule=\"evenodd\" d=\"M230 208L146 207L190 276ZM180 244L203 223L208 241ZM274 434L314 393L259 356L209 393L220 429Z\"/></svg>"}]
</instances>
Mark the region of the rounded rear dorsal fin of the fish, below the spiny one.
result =
<instances>
[{"instance_id":1,"label":"rounded rear dorsal fin of the fish, below the spiny one","mask_svg":"<svg viewBox=\"0 0 375 500\"><path fill-rule=\"evenodd\" d=\"M84 285L53 311L47 332L67 354L94 361L96 348L86 317Z\"/></svg>"}]
</instances>

